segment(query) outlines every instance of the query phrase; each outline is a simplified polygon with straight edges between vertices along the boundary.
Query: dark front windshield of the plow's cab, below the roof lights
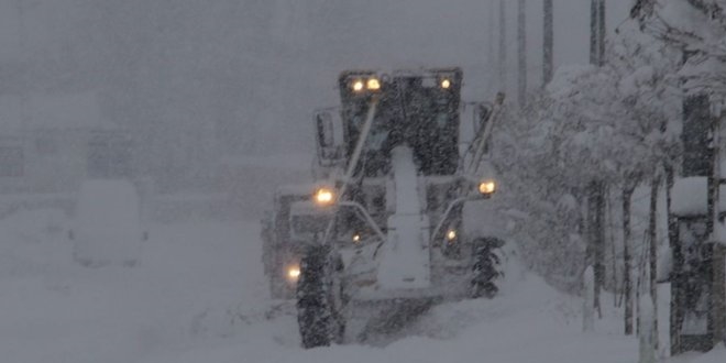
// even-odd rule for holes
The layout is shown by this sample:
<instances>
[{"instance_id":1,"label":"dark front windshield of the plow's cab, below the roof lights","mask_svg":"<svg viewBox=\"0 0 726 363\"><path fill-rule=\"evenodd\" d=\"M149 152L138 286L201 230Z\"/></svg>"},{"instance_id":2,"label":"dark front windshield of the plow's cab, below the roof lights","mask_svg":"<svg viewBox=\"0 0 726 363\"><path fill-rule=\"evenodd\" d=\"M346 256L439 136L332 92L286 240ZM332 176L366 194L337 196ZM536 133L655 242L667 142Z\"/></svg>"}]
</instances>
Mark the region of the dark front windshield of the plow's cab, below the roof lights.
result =
<instances>
[{"instance_id":1,"label":"dark front windshield of the plow's cab, below the roof lights","mask_svg":"<svg viewBox=\"0 0 726 363\"><path fill-rule=\"evenodd\" d=\"M386 175L391 151L413 148L424 175L451 175L459 162L459 90L427 85L422 77L398 77L384 84L358 173ZM371 107L371 95L343 92L346 155L355 148Z\"/></svg>"}]
</instances>

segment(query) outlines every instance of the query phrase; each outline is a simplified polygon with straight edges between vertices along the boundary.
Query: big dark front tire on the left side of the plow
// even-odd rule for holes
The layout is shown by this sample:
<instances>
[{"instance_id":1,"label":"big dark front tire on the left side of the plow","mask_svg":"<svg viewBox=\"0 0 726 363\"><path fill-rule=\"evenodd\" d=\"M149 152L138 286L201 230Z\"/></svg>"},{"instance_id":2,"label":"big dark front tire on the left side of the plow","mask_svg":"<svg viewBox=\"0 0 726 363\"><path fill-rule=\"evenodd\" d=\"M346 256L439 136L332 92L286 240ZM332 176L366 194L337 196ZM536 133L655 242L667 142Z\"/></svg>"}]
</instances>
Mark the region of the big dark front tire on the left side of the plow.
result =
<instances>
[{"instance_id":1,"label":"big dark front tire on the left side of the plow","mask_svg":"<svg viewBox=\"0 0 726 363\"><path fill-rule=\"evenodd\" d=\"M297 283L297 321L302 348L329 346L340 343L344 322L340 314L340 285L334 274L339 270L330 257L330 248L307 249L300 263Z\"/></svg>"}]
</instances>

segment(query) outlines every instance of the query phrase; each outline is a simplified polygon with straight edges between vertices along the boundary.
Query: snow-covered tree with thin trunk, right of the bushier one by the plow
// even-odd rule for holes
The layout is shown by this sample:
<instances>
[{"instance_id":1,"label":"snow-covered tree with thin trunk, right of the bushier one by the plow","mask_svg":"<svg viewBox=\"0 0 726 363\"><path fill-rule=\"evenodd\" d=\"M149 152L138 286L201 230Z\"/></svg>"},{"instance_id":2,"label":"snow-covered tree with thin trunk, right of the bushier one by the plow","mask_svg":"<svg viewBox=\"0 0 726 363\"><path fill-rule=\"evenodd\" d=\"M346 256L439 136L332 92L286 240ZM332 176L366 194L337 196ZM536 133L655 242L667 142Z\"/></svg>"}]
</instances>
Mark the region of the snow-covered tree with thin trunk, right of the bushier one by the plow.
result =
<instances>
[{"instance_id":1,"label":"snow-covered tree with thin trunk, right of the bushier one by the plow","mask_svg":"<svg viewBox=\"0 0 726 363\"><path fill-rule=\"evenodd\" d=\"M637 13L652 9L652 3L640 1L634 8ZM622 168L623 184L623 287L625 294L625 332L632 333L632 282L630 249L630 198L638 183L660 180L660 170L672 180L675 162L680 154L680 120L682 96L679 79L674 76L680 64L680 52L642 33L637 20L623 23L610 43L608 63L619 77L618 89L622 105L632 124L632 136L638 140L638 157ZM658 187L651 188L657 198ZM654 226L654 215L650 226ZM651 251L656 248L654 229L651 228ZM656 258L651 258L654 267Z\"/></svg>"}]
</instances>

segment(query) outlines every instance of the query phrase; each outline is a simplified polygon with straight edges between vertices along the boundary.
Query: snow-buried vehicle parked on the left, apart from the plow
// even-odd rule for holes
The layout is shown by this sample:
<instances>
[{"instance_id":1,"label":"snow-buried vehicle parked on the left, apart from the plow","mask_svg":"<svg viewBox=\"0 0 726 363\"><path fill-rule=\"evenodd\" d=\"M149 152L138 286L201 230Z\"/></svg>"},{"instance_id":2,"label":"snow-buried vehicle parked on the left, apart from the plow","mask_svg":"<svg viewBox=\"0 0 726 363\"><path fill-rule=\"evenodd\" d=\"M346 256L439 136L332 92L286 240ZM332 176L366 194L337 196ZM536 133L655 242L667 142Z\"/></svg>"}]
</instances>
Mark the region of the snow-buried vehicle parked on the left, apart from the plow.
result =
<instances>
[{"instance_id":1,"label":"snow-buried vehicle parked on the left, apart from the plow","mask_svg":"<svg viewBox=\"0 0 726 363\"><path fill-rule=\"evenodd\" d=\"M147 232L134 186L128 180L84 182L68 234L74 260L84 266L136 265Z\"/></svg>"}]
</instances>

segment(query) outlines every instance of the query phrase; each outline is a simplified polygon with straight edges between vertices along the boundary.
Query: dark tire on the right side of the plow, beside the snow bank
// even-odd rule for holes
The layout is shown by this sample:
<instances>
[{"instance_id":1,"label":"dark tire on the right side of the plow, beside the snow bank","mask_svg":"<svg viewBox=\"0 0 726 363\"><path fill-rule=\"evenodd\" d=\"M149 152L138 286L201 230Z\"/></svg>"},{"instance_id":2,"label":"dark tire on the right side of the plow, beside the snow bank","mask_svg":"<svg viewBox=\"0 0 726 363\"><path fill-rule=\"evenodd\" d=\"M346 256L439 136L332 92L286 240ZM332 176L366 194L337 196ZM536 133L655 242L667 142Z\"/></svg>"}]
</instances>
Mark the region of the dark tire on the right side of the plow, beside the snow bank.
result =
<instances>
[{"instance_id":1,"label":"dark tire on the right side of the plow, beside the snow bank","mask_svg":"<svg viewBox=\"0 0 726 363\"><path fill-rule=\"evenodd\" d=\"M472 266L471 297L493 298L499 292L496 280L502 272L501 248L504 241L494 238L474 241L474 264Z\"/></svg>"}]
</instances>

